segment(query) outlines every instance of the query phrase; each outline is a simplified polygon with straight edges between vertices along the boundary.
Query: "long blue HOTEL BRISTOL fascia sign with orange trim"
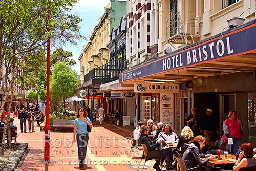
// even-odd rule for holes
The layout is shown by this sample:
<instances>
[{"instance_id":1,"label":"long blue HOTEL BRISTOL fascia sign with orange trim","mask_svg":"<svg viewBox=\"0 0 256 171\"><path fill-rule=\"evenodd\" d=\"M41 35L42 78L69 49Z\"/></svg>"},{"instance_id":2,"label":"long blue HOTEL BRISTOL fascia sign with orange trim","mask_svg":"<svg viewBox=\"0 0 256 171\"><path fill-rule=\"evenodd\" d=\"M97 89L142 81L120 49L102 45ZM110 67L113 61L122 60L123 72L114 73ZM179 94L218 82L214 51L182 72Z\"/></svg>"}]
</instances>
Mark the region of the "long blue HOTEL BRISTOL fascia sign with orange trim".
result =
<instances>
[{"instance_id":1,"label":"long blue HOTEL BRISTOL fascia sign with orange trim","mask_svg":"<svg viewBox=\"0 0 256 171\"><path fill-rule=\"evenodd\" d=\"M209 38L195 46L177 50L146 65L123 72L119 75L119 82L250 53L256 49L255 37L256 24L223 33L223 36Z\"/></svg>"}]
</instances>

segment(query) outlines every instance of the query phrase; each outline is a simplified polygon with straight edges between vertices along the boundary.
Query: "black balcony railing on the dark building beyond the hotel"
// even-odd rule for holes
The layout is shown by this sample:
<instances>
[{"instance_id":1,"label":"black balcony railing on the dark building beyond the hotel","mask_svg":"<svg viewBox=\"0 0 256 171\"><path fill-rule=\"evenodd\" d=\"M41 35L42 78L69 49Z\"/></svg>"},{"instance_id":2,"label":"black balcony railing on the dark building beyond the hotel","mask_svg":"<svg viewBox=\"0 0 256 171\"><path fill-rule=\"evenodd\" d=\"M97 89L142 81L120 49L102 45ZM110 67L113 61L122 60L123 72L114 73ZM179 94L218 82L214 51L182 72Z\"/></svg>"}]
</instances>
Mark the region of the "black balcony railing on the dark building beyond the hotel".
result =
<instances>
[{"instance_id":1,"label":"black balcony railing on the dark building beyond the hotel","mask_svg":"<svg viewBox=\"0 0 256 171\"><path fill-rule=\"evenodd\" d=\"M105 83L114 81L118 79L119 74L123 69L125 69L126 65L124 65L124 62L122 63L118 60L115 60L98 68L92 69L88 74L84 76L84 82L87 82L90 79L102 79L105 80Z\"/></svg>"}]
</instances>

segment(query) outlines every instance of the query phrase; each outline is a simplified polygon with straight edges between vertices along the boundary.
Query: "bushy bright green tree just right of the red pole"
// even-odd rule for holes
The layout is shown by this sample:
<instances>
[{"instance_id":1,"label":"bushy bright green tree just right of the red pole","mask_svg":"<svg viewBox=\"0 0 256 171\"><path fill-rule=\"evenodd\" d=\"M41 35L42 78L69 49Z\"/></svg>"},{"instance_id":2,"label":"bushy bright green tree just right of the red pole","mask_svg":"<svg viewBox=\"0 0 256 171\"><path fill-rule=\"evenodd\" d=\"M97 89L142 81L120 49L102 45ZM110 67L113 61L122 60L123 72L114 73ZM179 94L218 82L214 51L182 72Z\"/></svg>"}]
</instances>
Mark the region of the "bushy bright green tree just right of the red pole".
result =
<instances>
[{"instance_id":1,"label":"bushy bright green tree just right of the red pole","mask_svg":"<svg viewBox=\"0 0 256 171\"><path fill-rule=\"evenodd\" d=\"M58 111L59 105L57 104L61 100L65 104L65 99L76 95L78 81L76 71L72 70L69 65L65 62L55 63L50 77L50 101L55 103L54 106L58 106Z\"/></svg>"}]
</instances>

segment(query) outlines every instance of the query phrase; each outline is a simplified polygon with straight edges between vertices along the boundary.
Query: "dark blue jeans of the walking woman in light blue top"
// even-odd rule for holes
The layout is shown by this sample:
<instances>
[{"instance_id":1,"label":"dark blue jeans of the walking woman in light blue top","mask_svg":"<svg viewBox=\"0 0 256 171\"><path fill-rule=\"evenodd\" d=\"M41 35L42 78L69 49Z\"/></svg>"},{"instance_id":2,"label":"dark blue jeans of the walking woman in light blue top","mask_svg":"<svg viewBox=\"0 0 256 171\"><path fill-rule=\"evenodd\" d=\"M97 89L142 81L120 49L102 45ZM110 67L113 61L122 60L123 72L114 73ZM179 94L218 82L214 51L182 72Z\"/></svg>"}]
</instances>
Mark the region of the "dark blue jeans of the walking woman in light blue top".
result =
<instances>
[{"instance_id":1,"label":"dark blue jeans of the walking woman in light blue top","mask_svg":"<svg viewBox=\"0 0 256 171\"><path fill-rule=\"evenodd\" d=\"M88 140L88 134L76 134L79 166L84 165L84 159L86 159Z\"/></svg>"}]
</instances>

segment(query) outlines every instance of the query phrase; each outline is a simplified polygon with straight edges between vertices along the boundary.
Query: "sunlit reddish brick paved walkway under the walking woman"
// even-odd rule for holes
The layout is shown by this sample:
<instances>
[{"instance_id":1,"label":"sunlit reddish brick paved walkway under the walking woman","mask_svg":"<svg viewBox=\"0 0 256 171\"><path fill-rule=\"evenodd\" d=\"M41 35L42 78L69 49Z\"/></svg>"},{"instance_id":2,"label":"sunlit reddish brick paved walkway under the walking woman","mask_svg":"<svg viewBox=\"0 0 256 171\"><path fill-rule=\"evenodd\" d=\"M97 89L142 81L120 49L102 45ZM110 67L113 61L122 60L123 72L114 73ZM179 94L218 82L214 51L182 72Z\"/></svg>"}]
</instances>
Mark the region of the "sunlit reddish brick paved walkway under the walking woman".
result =
<instances>
[{"instance_id":1,"label":"sunlit reddish brick paved walkway under the walking woman","mask_svg":"<svg viewBox=\"0 0 256 171\"><path fill-rule=\"evenodd\" d=\"M20 133L19 120L14 121L18 127L17 142L26 142L30 148L19 170L78 170L77 144L73 143L73 132L51 132L50 162L48 168L44 163L44 132L40 132L35 125L34 133ZM27 126L28 127L28 126ZM134 127L115 126L103 123L94 126L89 133L90 142L87 148L87 170L137 170L142 147L131 149L131 137ZM27 130L28 131L28 130ZM143 160L144 161L144 160ZM144 162L141 162L141 165ZM144 170L152 171L154 160L147 161Z\"/></svg>"}]
</instances>

